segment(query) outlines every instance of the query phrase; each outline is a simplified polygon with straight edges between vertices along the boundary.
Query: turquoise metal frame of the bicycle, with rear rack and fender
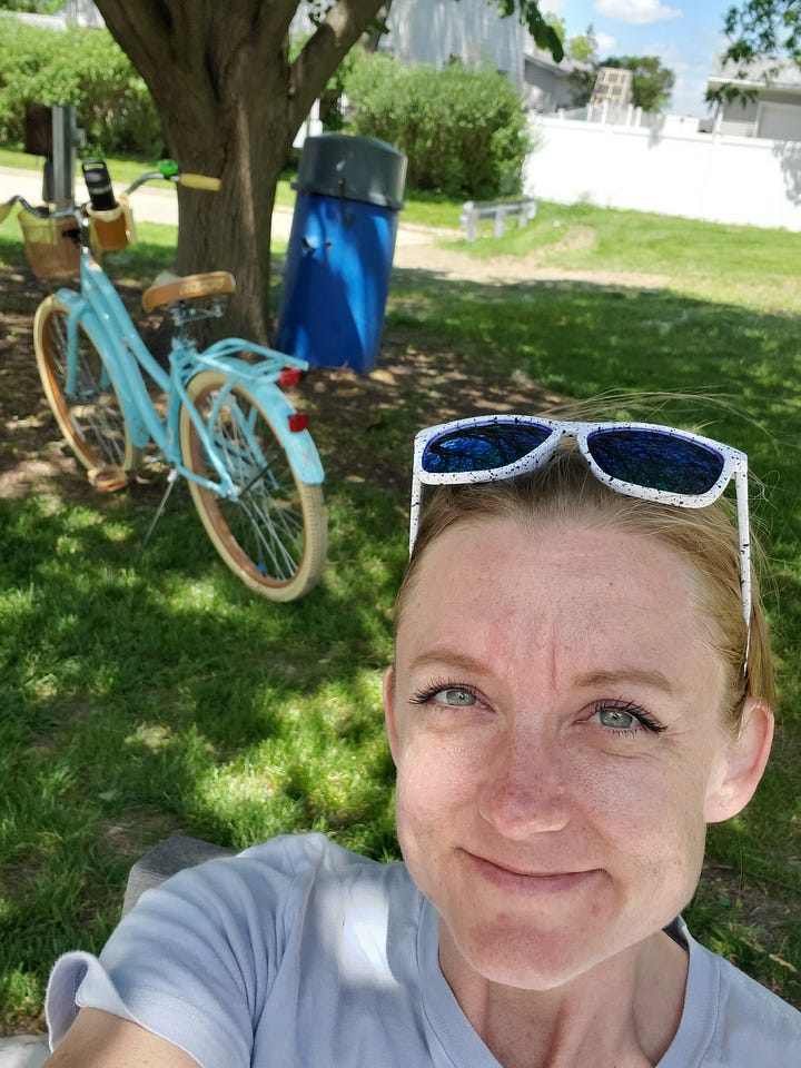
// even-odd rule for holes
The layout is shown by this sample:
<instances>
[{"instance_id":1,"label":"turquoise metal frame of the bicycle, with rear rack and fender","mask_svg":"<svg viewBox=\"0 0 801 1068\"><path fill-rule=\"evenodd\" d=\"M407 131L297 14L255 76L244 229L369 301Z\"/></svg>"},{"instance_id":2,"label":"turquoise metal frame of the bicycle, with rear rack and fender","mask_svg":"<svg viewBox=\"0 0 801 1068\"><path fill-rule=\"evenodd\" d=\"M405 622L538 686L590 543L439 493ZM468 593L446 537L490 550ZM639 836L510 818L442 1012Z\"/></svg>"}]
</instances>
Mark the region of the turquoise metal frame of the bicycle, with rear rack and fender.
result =
<instances>
[{"instance_id":1,"label":"turquoise metal frame of the bicycle, with rear rack and fender","mask_svg":"<svg viewBox=\"0 0 801 1068\"><path fill-rule=\"evenodd\" d=\"M227 388L221 389L217 398L215 414L226 404L234 386L246 386L273 423L298 477L312 485L324 481L323 467L312 436L306 431L289 429L288 417L294 414L294 408L276 385L281 369L293 367L305 370L308 367L306 360L240 338L216 342L205 352L198 353L194 343L174 337L169 372L166 372L142 342L119 294L87 248L82 248L80 257L80 293L62 288L57 291L57 297L69 308L66 392L75 393L80 323L103 356L103 375L108 375L113 382L135 447L141 448L155 443L167 463L179 475L220 496L236 497L238 491L217 456L216 445L204 419L187 394L187 385L195 375L201 370L214 369L224 373L228 378ZM238 352L253 353L260 359L251 365L231 355ZM167 413L164 418L159 416L148 395L145 375L167 395ZM197 475L181 461L178 436L181 405L187 407L219 482L210 482ZM247 434L248 427L243 426L243 431Z\"/></svg>"}]
</instances>

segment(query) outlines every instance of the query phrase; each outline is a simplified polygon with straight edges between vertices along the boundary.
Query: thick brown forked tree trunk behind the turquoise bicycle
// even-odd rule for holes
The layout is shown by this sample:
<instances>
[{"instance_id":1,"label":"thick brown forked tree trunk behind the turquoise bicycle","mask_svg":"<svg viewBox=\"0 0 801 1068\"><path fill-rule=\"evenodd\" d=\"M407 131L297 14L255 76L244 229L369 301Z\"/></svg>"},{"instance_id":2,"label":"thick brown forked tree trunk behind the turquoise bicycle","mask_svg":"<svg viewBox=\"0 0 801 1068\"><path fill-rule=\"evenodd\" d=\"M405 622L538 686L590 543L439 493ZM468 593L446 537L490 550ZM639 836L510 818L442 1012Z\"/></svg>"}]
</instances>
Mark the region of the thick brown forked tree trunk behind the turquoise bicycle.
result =
<instances>
[{"instance_id":1,"label":"thick brown forked tree trunk behind the turquoise bicycle","mask_svg":"<svg viewBox=\"0 0 801 1068\"><path fill-rule=\"evenodd\" d=\"M338 0L289 63L297 6L97 0L152 93L169 155L181 170L222 182L217 194L179 187L178 270L230 270L237 291L220 328L261 343L270 334L276 184L300 123L380 0Z\"/></svg>"}]
</instances>

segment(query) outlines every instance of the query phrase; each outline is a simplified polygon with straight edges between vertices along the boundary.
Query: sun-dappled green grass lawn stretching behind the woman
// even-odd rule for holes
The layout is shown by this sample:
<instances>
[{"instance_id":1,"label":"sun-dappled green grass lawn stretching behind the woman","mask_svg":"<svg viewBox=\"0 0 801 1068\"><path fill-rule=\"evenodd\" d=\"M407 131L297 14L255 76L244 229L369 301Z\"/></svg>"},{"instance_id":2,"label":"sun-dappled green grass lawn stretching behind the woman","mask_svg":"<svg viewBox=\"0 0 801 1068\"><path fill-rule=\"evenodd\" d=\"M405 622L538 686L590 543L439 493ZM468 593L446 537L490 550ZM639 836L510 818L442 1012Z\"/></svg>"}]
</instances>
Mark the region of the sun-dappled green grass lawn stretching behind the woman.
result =
<instances>
[{"instance_id":1,"label":"sun-dappled green grass lawn stretching behind the woman","mask_svg":"<svg viewBox=\"0 0 801 1068\"><path fill-rule=\"evenodd\" d=\"M456 225L457 205L421 210ZM523 264L535 280L397 270L375 372L305 386L329 564L308 597L273 605L218 564L182 490L145 547L160 476L95 496L62 455L14 227L0 227L0 1029L40 1025L53 958L102 945L130 864L174 830L244 847L317 829L396 854L380 675L414 431L596 395L751 457L781 725L755 800L713 829L690 919L801 1006L801 236L542 205L501 243L451 249L466 270L491 257L491 275ZM113 267L131 296L175 238L142 234Z\"/></svg>"}]
</instances>

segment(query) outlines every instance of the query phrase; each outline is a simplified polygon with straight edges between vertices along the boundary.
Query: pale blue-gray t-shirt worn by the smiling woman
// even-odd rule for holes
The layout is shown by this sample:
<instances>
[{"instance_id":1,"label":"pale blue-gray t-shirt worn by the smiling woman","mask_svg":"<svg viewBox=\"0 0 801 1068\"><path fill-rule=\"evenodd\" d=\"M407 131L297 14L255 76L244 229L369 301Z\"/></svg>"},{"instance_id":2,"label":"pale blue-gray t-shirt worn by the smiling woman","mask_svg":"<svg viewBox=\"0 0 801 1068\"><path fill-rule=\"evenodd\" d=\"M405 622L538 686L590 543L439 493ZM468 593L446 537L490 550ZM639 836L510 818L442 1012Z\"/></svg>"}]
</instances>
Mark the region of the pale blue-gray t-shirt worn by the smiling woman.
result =
<instances>
[{"instance_id":1,"label":"pale blue-gray t-shirt worn by the smiling woman","mask_svg":"<svg viewBox=\"0 0 801 1068\"><path fill-rule=\"evenodd\" d=\"M659 1068L799 1068L801 1012L695 942ZM438 963L437 916L403 863L284 835L145 893L95 958L57 961L51 1048L92 1006L202 1068L498 1068Z\"/></svg>"}]
</instances>

